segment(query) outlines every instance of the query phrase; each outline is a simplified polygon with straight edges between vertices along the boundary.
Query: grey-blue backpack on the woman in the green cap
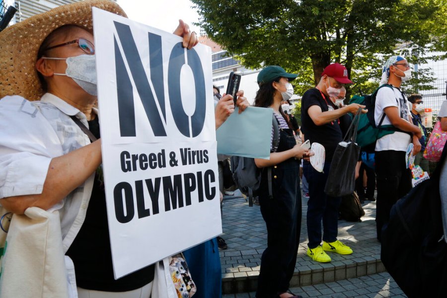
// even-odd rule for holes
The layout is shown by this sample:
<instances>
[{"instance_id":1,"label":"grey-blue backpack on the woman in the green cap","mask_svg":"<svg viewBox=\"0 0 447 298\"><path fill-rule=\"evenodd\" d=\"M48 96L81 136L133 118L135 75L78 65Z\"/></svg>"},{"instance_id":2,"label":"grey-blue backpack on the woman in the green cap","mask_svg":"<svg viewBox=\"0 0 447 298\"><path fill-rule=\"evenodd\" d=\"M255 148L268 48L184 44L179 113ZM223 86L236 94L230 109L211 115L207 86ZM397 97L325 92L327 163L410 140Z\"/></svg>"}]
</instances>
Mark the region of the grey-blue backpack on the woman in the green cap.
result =
<instances>
[{"instance_id":1,"label":"grey-blue backpack on the woman in the green cap","mask_svg":"<svg viewBox=\"0 0 447 298\"><path fill-rule=\"evenodd\" d=\"M273 115L273 148L278 146L279 143L279 123L276 117ZM239 188L240 192L248 197L248 206L253 207L253 196L257 195L257 190L261 183L262 169L258 168L255 164L254 158L231 156L231 172L233 175L233 181ZM268 180L269 180L269 195L272 193L272 169L267 167Z\"/></svg>"}]
</instances>

